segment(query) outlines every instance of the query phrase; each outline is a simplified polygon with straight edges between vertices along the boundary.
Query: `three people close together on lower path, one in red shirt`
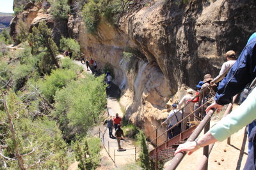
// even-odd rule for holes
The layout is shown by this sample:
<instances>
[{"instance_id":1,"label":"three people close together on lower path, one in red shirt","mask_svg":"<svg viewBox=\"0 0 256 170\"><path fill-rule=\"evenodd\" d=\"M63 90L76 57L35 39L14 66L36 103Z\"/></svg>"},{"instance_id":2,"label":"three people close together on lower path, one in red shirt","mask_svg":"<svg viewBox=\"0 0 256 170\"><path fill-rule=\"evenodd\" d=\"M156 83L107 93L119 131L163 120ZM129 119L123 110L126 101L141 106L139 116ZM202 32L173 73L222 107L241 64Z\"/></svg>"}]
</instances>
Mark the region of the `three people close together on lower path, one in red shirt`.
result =
<instances>
[{"instance_id":1,"label":"three people close together on lower path, one in red shirt","mask_svg":"<svg viewBox=\"0 0 256 170\"><path fill-rule=\"evenodd\" d=\"M115 137L116 141L118 143L118 150L122 150L121 147L121 139L124 138L124 131L121 129L121 123L122 118L118 116L118 113L116 113L116 117L113 118L112 116L109 116L108 118L108 132L109 132L109 138L114 138L113 136L113 127L115 128Z\"/></svg>"}]
</instances>

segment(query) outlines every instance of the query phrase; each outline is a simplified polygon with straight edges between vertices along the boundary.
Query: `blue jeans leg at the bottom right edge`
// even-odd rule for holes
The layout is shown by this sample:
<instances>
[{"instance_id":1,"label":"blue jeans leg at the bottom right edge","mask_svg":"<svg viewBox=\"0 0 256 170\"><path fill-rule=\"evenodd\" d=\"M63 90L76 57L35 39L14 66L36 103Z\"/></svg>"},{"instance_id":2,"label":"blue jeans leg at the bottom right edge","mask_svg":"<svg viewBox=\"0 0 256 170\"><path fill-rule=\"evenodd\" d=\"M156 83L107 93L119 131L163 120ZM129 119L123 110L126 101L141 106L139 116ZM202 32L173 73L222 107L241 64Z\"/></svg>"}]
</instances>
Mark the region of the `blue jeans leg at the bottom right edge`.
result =
<instances>
[{"instance_id":1,"label":"blue jeans leg at the bottom right edge","mask_svg":"<svg viewBox=\"0 0 256 170\"><path fill-rule=\"evenodd\" d=\"M256 127L253 127L248 141L252 142L253 145L246 160L244 170L253 170L256 169Z\"/></svg>"}]
</instances>

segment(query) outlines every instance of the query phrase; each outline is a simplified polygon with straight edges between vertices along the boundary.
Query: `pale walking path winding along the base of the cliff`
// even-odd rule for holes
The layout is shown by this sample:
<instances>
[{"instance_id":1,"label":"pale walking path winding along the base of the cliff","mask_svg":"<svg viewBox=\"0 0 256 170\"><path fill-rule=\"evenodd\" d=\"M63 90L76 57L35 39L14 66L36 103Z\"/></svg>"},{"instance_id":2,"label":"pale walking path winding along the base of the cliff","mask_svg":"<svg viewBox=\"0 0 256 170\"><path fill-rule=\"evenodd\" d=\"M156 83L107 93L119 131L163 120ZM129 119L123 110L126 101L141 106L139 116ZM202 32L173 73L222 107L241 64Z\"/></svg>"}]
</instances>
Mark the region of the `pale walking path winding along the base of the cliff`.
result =
<instances>
[{"instance_id":1,"label":"pale walking path winding along the base of the cliff","mask_svg":"<svg viewBox=\"0 0 256 170\"><path fill-rule=\"evenodd\" d=\"M58 55L58 57L61 59L64 58L63 55ZM82 64L78 60L74 60L74 62L77 65L82 66L84 71L86 71L86 73L90 73L90 74L94 73L94 71L91 70L90 68L87 70L86 64ZM120 117L123 117L124 113L122 112L120 104L118 103L118 98L120 97L119 88L115 84L111 83L111 88L108 90L107 95L108 95L107 108L108 108L109 115L115 117L115 114L118 113ZM101 129L103 130L103 127ZM113 129L113 134L115 134L114 129ZM102 138L102 134L100 135L100 138ZM127 163L135 162L135 150L134 150L135 146L132 144L131 140L126 138L122 140L121 146L122 148L124 148L124 150L122 150L122 152L118 152L117 151L118 144L116 139L109 138L109 132L108 132L108 129L106 129L106 133L104 135L104 146L106 150L109 150L109 155L105 149L102 149L101 151L102 160L100 163L100 167L97 168L98 170L113 169L115 167L124 166ZM115 161L115 164L113 161ZM72 164L68 169L70 170L78 169L78 162L74 162L74 164Z\"/></svg>"}]
</instances>

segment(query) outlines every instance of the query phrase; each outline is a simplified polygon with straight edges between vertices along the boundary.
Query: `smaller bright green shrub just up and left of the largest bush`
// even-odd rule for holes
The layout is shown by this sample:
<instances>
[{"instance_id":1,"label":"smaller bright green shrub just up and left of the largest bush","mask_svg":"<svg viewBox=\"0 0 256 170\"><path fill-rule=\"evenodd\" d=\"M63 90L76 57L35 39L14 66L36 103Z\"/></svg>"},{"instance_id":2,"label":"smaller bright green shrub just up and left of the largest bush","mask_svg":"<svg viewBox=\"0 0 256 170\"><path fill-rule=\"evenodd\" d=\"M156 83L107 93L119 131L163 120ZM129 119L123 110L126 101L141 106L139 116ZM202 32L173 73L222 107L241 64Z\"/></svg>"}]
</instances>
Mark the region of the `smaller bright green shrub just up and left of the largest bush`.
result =
<instances>
[{"instance_id":1,"label":"smaller bright green shrub just up and left of the largest bush","mask_svg":"<svg viewBox=\"0 0 256 170\"><path fill-rule=\"evenodd\" d=\"M57 90L67 86L70 81L76 79L76 73L68 69L56 69L45 80L39 80L38 86L42 94L50 103L53 103L54 96Z\"/></svg>"}]
</instances>

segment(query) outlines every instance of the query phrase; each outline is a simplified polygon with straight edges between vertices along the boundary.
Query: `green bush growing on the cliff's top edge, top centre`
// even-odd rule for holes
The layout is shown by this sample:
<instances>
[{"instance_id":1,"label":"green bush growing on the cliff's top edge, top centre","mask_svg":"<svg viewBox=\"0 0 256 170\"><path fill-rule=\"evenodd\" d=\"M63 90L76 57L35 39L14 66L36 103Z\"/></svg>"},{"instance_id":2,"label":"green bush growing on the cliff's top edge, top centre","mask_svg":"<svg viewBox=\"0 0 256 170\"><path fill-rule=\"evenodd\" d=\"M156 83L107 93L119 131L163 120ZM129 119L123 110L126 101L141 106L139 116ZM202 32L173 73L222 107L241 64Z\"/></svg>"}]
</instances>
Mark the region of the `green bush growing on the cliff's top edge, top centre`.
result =
<instances>
[{"instance_id":1,"label":"green bush growing on the cliff's top edge, top centre","mask_svg":"<svg viewBox=\"0 0 256 170\"><path fill-rule=\"evenodd\" d=\"M91 34L97 31L101 18L110 24L115 24L118 20L117 14L124 11L130 0L89 0L84 4L83 19L87 31Z\"/></svg>"}]
</instances>

